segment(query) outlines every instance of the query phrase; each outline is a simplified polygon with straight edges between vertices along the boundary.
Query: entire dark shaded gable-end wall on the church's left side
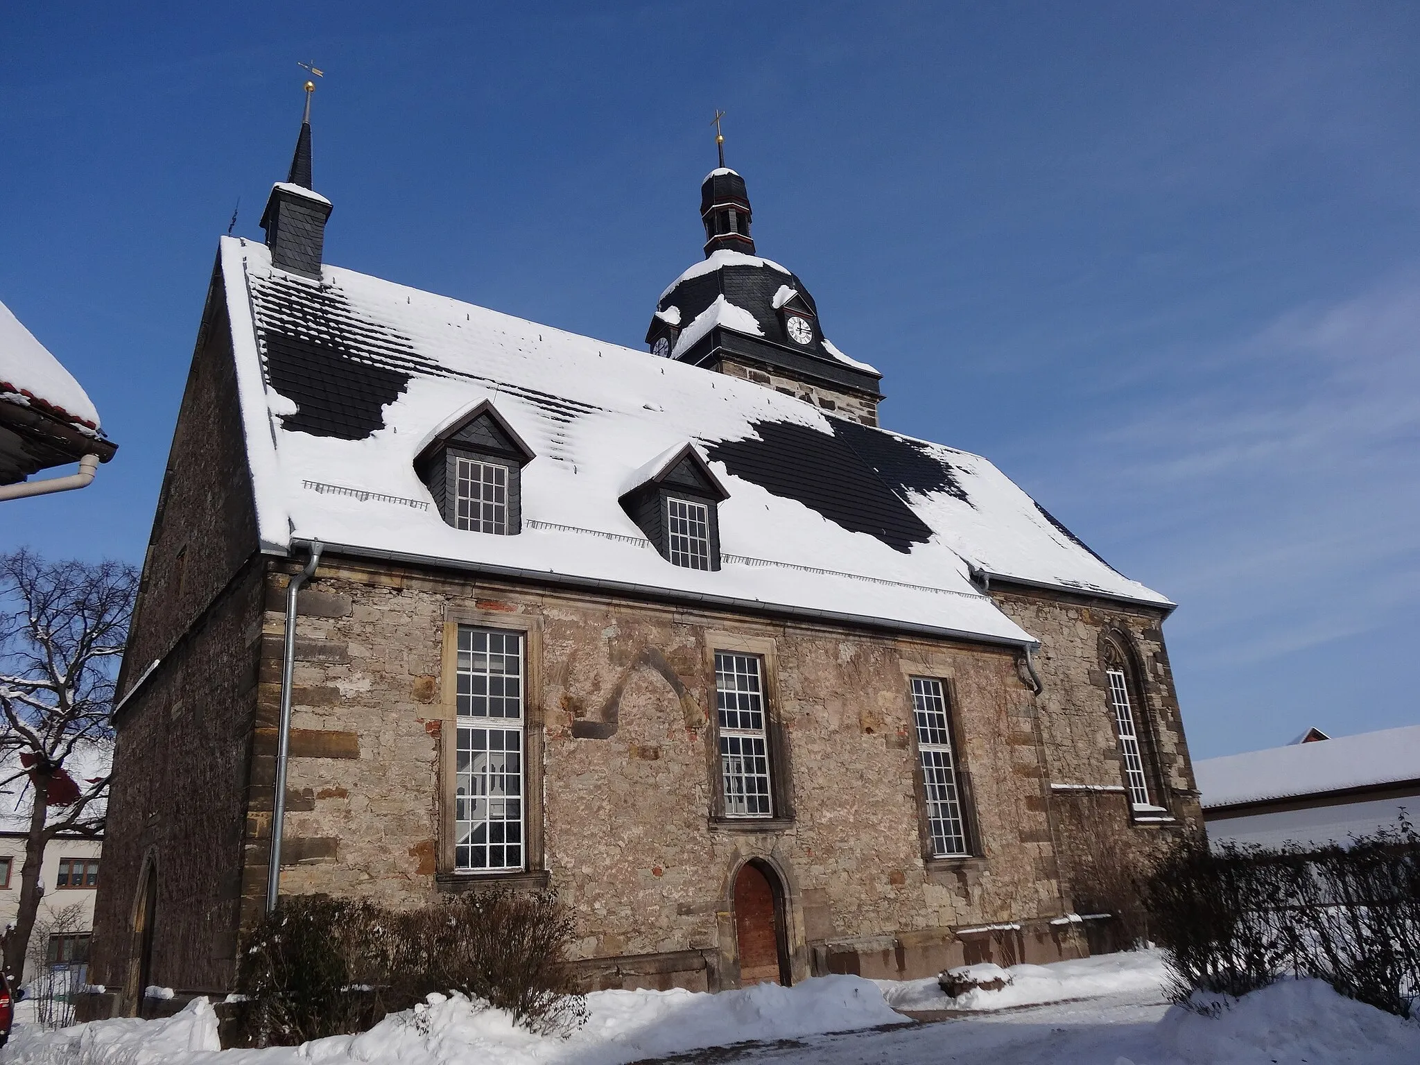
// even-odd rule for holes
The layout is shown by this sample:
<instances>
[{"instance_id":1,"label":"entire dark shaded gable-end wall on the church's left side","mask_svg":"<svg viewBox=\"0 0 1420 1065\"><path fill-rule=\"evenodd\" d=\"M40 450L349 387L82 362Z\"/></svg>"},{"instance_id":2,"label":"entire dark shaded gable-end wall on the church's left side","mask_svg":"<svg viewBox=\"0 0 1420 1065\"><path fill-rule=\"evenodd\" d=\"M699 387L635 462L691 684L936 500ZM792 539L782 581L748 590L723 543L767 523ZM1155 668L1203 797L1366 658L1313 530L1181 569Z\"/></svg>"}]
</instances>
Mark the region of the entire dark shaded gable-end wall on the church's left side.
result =
<instances>
[{"instance_id":1,"label":"entire dark shaded gable-end wall on the church's left side","mask_svg":"<svg viewBox=\"0 0 1420 1065\"><path fill-rule=\"evenodd\" d=\"M89 963L109 991L81 1003L89 1015L138 1005L133 922L149 865L152 978L213 990L233 976L264 564L230 331L222 300L207 307L118 679L128 694L160 659L115 719Z\"/></svg>"}]
</instances>

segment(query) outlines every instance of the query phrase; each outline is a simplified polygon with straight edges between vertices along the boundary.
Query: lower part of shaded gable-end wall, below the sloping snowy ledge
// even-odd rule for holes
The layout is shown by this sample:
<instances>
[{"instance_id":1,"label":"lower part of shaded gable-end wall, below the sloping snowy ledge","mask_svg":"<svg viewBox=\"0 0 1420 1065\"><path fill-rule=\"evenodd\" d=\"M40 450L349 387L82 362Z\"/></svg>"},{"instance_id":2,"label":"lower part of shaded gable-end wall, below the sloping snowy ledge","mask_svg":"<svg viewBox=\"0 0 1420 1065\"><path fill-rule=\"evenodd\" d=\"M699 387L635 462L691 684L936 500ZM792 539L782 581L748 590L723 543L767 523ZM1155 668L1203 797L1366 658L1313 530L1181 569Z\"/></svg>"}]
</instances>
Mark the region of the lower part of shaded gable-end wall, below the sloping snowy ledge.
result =
<instances>
[{"instance_id":1,"label":"lower part of shaded gable-end wall, below the sloping snowy ledge","mask_svg":"<svg viewBox=\"0 0 1420 1065\"><path fill-rule=\"evenodd\" d=\"M89 963L89 983L108 988L105 1015L136 1008L142 991L133 923L149 865L149 983L231 985L261 586L257 559L119 717Z\"/></svg>"}]
</instances>

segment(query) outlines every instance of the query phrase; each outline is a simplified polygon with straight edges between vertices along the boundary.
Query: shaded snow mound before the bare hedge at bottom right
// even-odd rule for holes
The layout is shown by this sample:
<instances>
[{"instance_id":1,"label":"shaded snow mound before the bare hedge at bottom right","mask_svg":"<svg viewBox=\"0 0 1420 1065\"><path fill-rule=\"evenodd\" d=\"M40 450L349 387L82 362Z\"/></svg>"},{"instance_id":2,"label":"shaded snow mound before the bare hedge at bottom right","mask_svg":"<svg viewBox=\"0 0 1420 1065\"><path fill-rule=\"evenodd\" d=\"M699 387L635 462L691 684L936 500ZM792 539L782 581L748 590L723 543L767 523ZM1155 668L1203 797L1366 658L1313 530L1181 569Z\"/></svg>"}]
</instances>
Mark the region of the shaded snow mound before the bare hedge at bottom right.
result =
<instances>
[{"instance_id":1,"label":"shaded snow mound before the bare hedge at bottom right","mask_svg":"<svg viewBox=\"0 0 1420 1065\"><path fill-rule=\"evenodd\" d=\"M1200 997L1203 1015L1173 1007L1156 1028L1162 1047L1200 1065L1328 1062L1414 1065L1420 1024L1336 994L1321 980L1287 980L1238 1000Z\"/></svg>"}]
</instances>

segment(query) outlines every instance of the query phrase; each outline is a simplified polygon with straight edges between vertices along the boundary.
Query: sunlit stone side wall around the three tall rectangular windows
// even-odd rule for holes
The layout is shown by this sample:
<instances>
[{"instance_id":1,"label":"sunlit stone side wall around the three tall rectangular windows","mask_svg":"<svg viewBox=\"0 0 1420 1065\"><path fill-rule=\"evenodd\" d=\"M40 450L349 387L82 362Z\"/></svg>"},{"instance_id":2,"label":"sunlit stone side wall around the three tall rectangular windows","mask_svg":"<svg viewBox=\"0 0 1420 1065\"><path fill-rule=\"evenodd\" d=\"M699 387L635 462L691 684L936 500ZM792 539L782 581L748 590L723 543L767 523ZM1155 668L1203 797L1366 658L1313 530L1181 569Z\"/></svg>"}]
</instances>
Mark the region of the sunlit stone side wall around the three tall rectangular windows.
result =
<instances>
[{"instance_id":1,"label":"sunlit stone side wall around the three tall rectangular windows","mask_svg":"<svg viewBox=\"0 0 1420 1065\"><path fill-rule=\"evenodd\" d=\"M270 832L284 577L268 586L244 920L260 910ZM991 956L954 929L1025 922L1014 950L1072 956L1035 709L1012 652L322 562L301 594L283 892L409 906L440 876L440 743L450 616L532 623L530 716L542 719L545 841L532 868L577 914L577 956L604 984L733 985L730 897L758 858L785 889L791 970L926 976ZM720 633L720 635L716 635ZM771 713L792 816L768 831L711 818L711 652L768 642ZM978 858L924 861L909 676L950 682ZM535 802L534 802L535 805ZM781 811L782 814L784 811ZM545 856L545 863L542 858ZM537 876L532 878L537 882ZM970 934L968 937L970 939ZM1021 937L1017 937L1021 939ZM973 946L974 943L974 946ZM1010 957L1007 958L1010 960Z\"/></svg>"}]
</instances>

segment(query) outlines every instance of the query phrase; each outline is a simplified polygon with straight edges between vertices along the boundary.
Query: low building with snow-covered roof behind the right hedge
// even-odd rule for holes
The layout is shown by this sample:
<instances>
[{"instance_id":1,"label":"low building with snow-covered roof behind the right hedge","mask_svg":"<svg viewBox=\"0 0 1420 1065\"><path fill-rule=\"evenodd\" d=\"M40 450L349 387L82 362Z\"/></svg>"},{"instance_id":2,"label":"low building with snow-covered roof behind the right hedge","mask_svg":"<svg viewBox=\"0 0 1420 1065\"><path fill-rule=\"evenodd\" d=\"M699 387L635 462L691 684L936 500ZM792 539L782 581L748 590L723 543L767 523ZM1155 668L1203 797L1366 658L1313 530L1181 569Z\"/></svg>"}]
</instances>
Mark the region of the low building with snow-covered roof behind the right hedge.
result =
<instances>
[{"instance_id":1,"label":"low building with snow-covered roof behind the right hedge","mask_svg":"<svg viewBox=\"0 0 1420 1065\"><path fill-rule=\"evenodd\" d=\"M1198 775L1214 845L1345 843L1420 818L1420 724L1206 758Z\"/></svg>"}]
</instances>

